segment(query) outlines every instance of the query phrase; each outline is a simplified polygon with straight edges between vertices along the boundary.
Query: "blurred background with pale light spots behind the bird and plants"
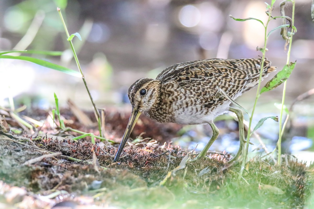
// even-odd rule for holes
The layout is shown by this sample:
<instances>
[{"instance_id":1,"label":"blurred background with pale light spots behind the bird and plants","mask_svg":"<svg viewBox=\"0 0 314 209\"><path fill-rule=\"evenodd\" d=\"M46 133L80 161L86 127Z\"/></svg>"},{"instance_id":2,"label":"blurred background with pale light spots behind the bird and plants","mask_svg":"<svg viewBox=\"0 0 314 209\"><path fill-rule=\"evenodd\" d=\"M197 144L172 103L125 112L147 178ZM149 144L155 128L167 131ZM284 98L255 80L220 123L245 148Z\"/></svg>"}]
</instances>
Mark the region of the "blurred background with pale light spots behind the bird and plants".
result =
<instances>
[{"instance_id":1,"label":"blurred background with pale light spots behind the bird and plants","mask_svg":"<svg viewBox=\"0 0 314 209\"><path fill-rule=\"evenodd\" d=\"M31 55L76 70L57 7L61 8L70 34L78 32L74 47L97 107L127 108L128 87L141 77L154 78L166 67L204 58L257 58L264 42L263 26L257 21L237 22L235 18L259 18L266 22L264 0L2 0L0 1L0 51L53 50L62 56ZM268 2L270 4L270 1ZM272 15L279 16L279 3ZM292 6L286 7L291 17ZM269 29L281 25L273 20ZM286 104L314 88L314 27L311 0L296 0L295 27L290 61L297 60L287 83ZM268 39L266 56L280 71L287 50L280 30ZM270 75L266 83L275 73ZM80 78L18 60L0 60L0 105L13 96L16 105L28 108L54 107L55 92L62 106L68 98L86 110L92 106ZM264 93L258 102L257 121L279 115L274 103L281 102L283 85ZM251 111L256 89L237 101ZM314 150L313 97L295 103L291 139L298 136L298 150ZM257 123L256 121L256 123ZM278 124L266 121L264 133L276 140ZM278 137L278 136L277 136ZM300 139L301 138L301 139ZM300 139L300 140L299 140ZM301 143L302 142L302 143ZM220 149L221 150L221 149Z\"/></svg>"}]
</instances>

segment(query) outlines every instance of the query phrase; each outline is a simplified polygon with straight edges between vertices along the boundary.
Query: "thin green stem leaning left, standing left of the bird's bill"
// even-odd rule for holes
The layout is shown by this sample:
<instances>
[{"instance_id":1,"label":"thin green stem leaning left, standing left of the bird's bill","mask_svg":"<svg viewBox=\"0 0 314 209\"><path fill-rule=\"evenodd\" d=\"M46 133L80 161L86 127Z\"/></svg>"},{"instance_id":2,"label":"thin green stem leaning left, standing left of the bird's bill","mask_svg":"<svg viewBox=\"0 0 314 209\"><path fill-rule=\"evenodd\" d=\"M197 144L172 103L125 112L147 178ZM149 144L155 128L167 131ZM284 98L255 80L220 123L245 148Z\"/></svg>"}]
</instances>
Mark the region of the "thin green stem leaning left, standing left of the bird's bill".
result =
<instances>
[{"instance_id":1,"label":"thin green stem leaning left, standing left of the bird's bill","mask_svg":"<svg viewBox=\"0 0 314 209\"><path fill-rule=\"evenodd\" d=\"M62 21L64 30L65 30L65 32L66 32L66 34L67 34L67 38L69 38L70 35L69 35L69 32L68 32L67 26L66 26L66 24L65 24L65 21L64 21L64 19L63 19L63 17L62 17L61 11L60 11L59 8L58 8L57 10L58 10L58 12L59 12L59 15L60 15L60 18L61 18L61 21ZM97 116L96 119L97 119L97 123L98 123L99 135L100 135L101 137L103 137L103 134L102 134L102 132L101 132L100 113L98 112L97 107L96 107L96 105L95 105L95 102L94 102L94 100L93 100L93 97L92 97L92 95L90 94L89 88L87 87L87 83L86 83L86 81L85 81L85 77L84 77L84 74L83 74L81 65L79 64L78 56L76 55L76 52L75 52L75 49L74 49L72 40L69 40L69 42L70 42L70 45L71 45L71 48L72 48L72 51L73 51L73 55L74 55L74 59L75 59L76 65L78 66L78 70L80 71L80 73L81 73L81 75L82 75L82 79L83 79L84 85L85 85L85 87L86 87L86 90L87 90L87 93L88 93L88 95L89 95L90 101L91 101L92 104L93 104L94 111L95 111L95 115Z\"/></svg>"}]
</instances>

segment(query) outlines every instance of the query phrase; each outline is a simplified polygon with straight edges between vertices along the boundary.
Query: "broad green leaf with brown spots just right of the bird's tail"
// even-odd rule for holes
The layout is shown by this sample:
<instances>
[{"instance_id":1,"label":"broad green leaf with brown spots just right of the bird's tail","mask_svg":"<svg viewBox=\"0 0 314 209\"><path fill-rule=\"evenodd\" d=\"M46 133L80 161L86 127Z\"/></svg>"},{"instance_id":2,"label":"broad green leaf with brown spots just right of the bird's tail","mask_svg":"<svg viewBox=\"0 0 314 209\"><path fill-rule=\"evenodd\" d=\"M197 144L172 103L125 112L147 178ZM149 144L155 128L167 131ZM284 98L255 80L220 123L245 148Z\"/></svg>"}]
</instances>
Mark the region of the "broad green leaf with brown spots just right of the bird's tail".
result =
<instances>
[{"instance_id":1,"label":"broad green leaf with brown spots just right of the bird's tail","mask_svg":"<svg viewBox=\"0 0 314 209\"><path fill-rule=\"evenodd\" d=\"M261 94L263 92L267 92L275 89L277 86L282 84L285 80L287 80L295 67L296 62L290 62L289 65L284 65L284 68L277 73L270 81L266 83L266 85L262 88Z\"/></svg>"}]
</instances>

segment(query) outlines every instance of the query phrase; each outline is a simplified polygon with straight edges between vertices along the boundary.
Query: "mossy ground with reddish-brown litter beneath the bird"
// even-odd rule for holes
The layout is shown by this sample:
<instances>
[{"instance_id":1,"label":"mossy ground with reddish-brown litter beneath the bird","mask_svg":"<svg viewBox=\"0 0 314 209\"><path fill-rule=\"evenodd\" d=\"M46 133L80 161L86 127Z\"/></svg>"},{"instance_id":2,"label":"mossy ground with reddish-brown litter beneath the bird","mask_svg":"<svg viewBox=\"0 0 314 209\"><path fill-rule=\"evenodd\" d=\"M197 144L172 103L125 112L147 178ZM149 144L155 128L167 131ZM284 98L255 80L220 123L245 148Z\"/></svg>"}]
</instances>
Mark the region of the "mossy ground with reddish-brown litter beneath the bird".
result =
<instances>
[{"instance_id":1,"label":"mossy ground with reddish-brown litter beneath the bird","mask_svg":"<svg viewBox=\"0 0 314 209\"><path fill-rule=\"evenodd\" d=\"M47 118L47 112L35 112L31 117ZM66 126L97 133L96 127L83 127L67 110L62 115L72 121ZM106 135L119 142L127 120L127 114L107 113ZM226 164L230 154L210 154L209 159L190 162L187 157L195 157L194 153L169 141L181 126L140 120L133 138L143 130L146 135L129 143L118 163L113 163L118 143L49 137L58 131L47 127L42 127L47 137L37 138L0 131L3 208L304 208L310 204L312 166L289 157L281 166L254 158L239 179L241 164ZM61 155L25 165L48 155L47 151Z\"/></svg>"}]
</instances>

